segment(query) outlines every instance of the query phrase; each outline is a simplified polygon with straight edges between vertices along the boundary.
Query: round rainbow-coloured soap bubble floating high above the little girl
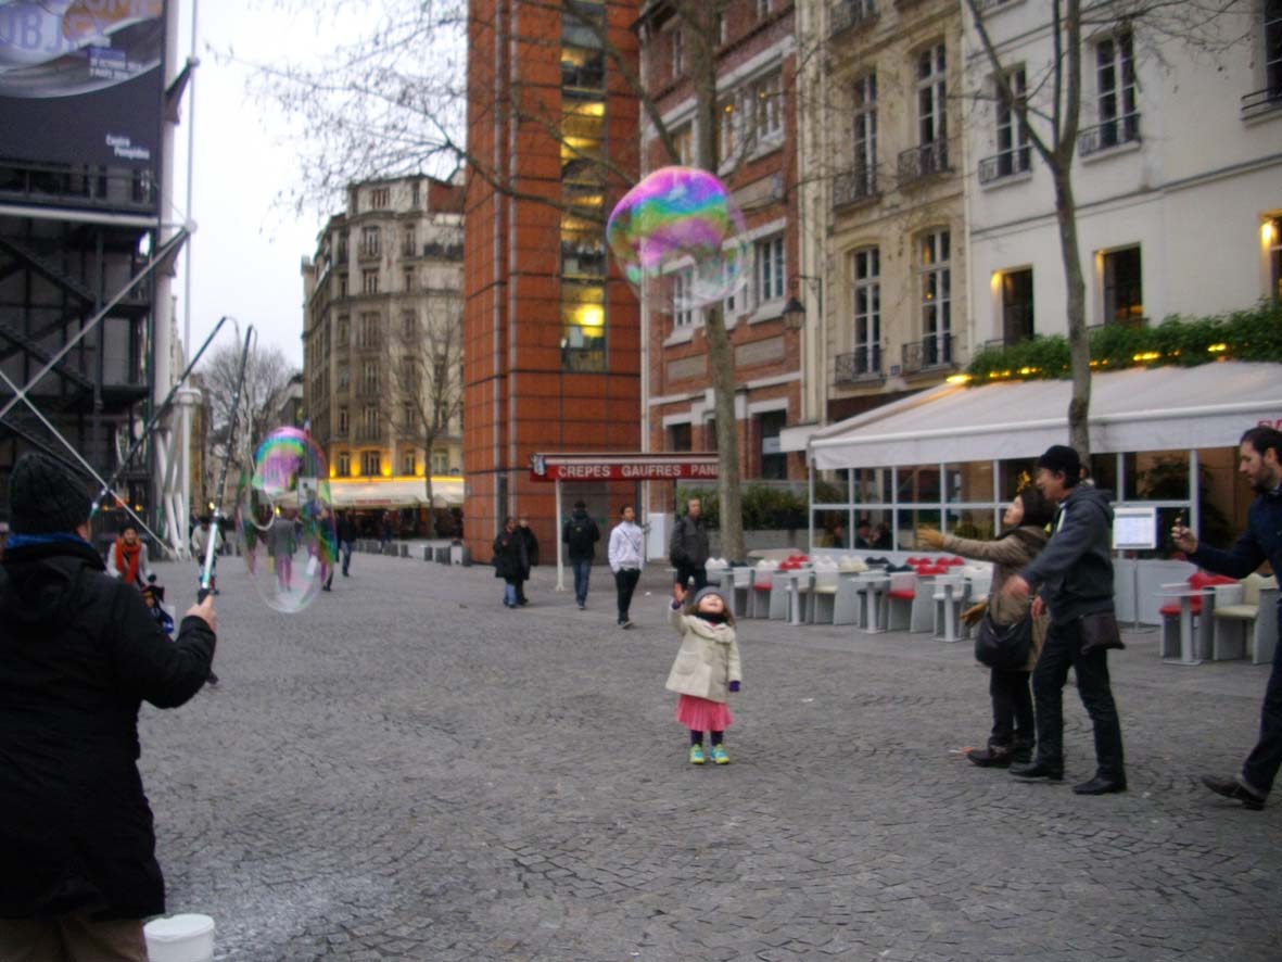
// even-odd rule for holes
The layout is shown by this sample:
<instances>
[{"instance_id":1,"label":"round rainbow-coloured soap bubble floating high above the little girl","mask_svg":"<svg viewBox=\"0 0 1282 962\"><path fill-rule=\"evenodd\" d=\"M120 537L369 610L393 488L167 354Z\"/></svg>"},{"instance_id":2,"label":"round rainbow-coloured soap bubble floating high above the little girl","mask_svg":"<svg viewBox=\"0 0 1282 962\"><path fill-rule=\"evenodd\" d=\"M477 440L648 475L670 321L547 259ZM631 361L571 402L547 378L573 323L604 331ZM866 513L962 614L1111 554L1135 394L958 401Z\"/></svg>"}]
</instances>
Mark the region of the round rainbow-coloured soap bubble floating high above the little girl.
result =
<instances>
[{"instance_id":1,"label":"round rainbow-coloured soap bubble floating high above the little girl","mask_svg":"<svg viewBox=\"0 0 1282 962\"><path fill-rule=\"evenodd\" d=\"M713 304L747 282L744 214L708 171L649 174L615 204L605 240L628 283L659 310Z\"/></svg>"}]
</instances>

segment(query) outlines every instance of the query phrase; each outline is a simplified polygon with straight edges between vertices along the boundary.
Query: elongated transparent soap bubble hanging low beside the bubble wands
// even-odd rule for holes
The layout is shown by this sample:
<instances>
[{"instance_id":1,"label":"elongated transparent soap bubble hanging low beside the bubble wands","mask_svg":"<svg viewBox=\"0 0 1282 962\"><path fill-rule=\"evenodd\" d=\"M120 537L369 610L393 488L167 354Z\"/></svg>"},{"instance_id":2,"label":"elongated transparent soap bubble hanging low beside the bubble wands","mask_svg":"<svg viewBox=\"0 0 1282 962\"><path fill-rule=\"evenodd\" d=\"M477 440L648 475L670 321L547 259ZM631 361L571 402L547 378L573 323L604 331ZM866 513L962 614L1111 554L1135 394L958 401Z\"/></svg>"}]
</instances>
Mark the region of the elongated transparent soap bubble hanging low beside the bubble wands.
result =
<instances>
[{"instance_id":1,"label":"elongated transparent soap bubble hanging low beside the bubble wands","mask_svg":"<svg viewBox=\"0 0 1282 962\"><path fill-rule=\"evenodd\" d=\"M337 554L324 454L296 427L281 427L254 453L236 500L250 580L278 612L306 608Z\"/></svg>"}]
</instances>

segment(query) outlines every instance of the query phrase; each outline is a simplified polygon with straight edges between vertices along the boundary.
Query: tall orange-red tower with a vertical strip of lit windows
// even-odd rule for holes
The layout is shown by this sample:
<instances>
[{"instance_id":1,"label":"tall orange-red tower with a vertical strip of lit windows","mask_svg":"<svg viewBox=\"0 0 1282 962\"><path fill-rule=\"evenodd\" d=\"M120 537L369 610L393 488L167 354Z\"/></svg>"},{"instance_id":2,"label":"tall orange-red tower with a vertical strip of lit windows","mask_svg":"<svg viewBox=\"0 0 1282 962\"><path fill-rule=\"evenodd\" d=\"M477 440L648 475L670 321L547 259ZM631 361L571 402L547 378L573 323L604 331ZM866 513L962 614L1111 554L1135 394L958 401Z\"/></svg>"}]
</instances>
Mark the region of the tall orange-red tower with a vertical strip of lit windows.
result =
<instances>
[{"instance_id":1,"label":"tall orange-red tower with a vertical strip of lit windows","mask_svg":"<svg viewBox=\"0 0 1282 962\"><path fill-rule=\"evenodd\" d=\"M641 448L640 309L605 218L636 180L636 3L473 0L464 233L464 526L486 561L506 514L551 555L536 451ZM604 163L603 163L604 162ZM604 519L636 485L585 485Z\"/></svg>"}]
</instances>

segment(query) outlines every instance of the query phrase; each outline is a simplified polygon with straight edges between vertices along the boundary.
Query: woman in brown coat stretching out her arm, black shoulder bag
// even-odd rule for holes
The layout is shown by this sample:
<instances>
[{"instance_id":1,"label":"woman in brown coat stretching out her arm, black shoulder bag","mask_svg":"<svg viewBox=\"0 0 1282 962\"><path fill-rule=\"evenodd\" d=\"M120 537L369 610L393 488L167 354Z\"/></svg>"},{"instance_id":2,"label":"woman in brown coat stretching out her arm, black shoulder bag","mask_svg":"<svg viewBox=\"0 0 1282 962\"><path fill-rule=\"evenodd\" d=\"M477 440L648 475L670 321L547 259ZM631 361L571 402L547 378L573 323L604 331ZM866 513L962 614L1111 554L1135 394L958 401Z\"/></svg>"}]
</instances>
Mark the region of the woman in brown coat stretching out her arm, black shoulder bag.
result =
<instances>
[{"instance_id":1,"label":"woman in brown coat stretching out her arm, black shoulder bag","mask_svg":"<svg viewBox=\"0 0 1282 962\"><path fill-rule=\"evenodd\" d=\"M1015 599L1003 594L1006 580L1032 563L1046 546L1046 526L1054 517L1054 508L1041 491L1027 487L1015 495L1001 517L1005 532L994 541L956 537L923 528L917 532L922 541L935 550L951 552L964 558L992 562L992 586L981 612L987 611L997 626L1017 625L1031 618L1032 652L1028 662L1019 668L990 668L988 696L992 700L992 731L983 749L972 749L967 758L981 768L1006 768L1011 762L1028 763L1037 744L1033 716L1033 695L1028 688L1037 655L1046 640L1047 618L1033 618L1031 598Z\"/></svg>"}]
</instances>

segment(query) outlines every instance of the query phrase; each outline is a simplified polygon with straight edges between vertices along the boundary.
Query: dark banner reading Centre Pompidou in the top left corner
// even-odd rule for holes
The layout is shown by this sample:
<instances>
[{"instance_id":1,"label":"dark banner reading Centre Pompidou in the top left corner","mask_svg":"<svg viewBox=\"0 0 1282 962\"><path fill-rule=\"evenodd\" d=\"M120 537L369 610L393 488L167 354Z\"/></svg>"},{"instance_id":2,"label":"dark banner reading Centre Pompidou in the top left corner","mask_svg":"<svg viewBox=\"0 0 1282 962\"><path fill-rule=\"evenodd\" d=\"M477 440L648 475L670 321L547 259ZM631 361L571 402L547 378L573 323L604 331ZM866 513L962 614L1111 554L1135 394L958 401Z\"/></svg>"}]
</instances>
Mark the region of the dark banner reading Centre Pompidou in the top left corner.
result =
<instances>
[{"instance_id":1,"label":"dark banner reading Centre Pompidou in the top left corner","mask_svg":"<svg viewBox=\"0 0 1282 962\"><path fill-rule=\"evenodd\" d=\"M164 18L164 0L0 0L5 156L159 169Z\"/></svg>"}]
</instances>

